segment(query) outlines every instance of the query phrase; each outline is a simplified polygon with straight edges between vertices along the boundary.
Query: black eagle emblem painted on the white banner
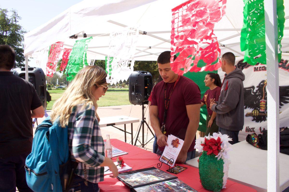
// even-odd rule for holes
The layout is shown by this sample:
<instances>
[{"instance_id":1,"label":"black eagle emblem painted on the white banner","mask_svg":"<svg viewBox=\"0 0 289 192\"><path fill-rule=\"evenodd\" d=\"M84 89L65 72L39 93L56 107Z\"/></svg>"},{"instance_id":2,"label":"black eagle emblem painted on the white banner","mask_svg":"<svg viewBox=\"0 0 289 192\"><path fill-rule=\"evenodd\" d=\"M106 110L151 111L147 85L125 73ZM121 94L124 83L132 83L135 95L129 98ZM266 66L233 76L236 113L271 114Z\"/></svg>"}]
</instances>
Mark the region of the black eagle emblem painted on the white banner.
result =
<instances>
[{"instance_id":1,"label":"black eagle emblem painted on the white banner","mask_svg":"<svg viewBox=\"0 0 289 192\"><path fill-rule=\"evenodd\" d=\"M252 121L262 122L267 120L267 80L262 80L259 85L244 88L244 109L253 109L246 117L253 117ZM289 103L289 86L279 86L279 108Z\"/></svg>"}]
</instances>

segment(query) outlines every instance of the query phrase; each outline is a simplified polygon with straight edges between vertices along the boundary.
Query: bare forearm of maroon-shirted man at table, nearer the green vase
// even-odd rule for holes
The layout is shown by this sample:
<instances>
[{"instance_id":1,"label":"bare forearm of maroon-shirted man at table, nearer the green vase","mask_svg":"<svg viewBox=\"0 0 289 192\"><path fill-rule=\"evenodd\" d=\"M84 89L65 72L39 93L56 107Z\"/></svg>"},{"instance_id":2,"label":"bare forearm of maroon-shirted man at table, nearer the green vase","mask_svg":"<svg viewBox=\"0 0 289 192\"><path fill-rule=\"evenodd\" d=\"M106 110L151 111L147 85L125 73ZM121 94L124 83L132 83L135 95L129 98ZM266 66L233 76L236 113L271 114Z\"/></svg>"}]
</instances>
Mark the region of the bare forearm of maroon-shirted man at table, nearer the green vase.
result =
<instances>
[{"instance_id":1,"label":"bare forearm of maroon-shirted man at table, nearer the green vase","mask_svg":"<svg viewBox=\"0 0 289 192\"><path fill-rule=\"evenodd\" d=\"M184 145L181 150L188 151L190 146L192 145L192 142L196 136L197 130L199 127L199 121L198 120L190 120L188 124L188 128L186 131L186 136L184 140Z\"/></svg>"}]
</instances>

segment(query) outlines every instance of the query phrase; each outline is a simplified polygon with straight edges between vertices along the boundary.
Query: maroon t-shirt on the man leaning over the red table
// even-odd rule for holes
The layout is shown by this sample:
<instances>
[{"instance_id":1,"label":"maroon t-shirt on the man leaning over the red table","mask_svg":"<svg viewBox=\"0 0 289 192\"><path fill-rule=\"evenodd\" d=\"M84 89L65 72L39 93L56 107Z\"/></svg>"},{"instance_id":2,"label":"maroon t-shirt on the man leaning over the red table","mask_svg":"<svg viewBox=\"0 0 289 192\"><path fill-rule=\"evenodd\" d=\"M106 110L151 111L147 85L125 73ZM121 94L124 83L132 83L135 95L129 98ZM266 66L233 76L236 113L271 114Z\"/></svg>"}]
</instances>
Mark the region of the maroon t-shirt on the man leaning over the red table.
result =
<instances>
[{"instance_id":1,"label":"maroon t-shirt on the man leaning over the red table","mask_svg":"<svg viewBox=\"0 0 289 192\"><path fill-rule=\"evenodd\" d=\"M171 91L175 85L173 83L167 83L167 98L171 94ZM159 82L153 88L151 93L151 105L158 106L158 118L160 125L164 119L164 81ZM201 103L201 91L199 86L187 77L180 76L175 89L173 90L170 103L168 106L166 117L166 136L172 134L185 140L187 127L189 124L189 118L187 114L186 105L200 104ZM195 140L192 142L188 152L193 151L195 146ZM159 147L160 150L164 150L164 147Z\"/></svg>"}]
</instances>

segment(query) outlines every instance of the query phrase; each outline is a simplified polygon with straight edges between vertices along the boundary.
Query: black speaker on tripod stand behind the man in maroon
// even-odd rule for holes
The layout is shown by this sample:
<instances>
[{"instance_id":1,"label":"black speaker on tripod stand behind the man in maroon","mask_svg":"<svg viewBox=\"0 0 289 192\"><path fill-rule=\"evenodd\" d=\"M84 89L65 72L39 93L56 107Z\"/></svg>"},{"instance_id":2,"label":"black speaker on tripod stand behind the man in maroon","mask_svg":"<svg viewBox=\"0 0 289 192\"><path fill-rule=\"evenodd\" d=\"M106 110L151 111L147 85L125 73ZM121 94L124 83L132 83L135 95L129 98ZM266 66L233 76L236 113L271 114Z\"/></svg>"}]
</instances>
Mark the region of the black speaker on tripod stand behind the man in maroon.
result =
<instances>
[{"instance_id":1,"label":"black speaker on tripod stand behind the man in maroon","mask_svg":"<svg viewBox=\"0 0 289 192\"><path fill-rule=\"evenodd\" d=\"M153 88L153 77L147 71L134 71L129 75L129 102L134 105L147 103Z\"/></svg>"}]
</instances>

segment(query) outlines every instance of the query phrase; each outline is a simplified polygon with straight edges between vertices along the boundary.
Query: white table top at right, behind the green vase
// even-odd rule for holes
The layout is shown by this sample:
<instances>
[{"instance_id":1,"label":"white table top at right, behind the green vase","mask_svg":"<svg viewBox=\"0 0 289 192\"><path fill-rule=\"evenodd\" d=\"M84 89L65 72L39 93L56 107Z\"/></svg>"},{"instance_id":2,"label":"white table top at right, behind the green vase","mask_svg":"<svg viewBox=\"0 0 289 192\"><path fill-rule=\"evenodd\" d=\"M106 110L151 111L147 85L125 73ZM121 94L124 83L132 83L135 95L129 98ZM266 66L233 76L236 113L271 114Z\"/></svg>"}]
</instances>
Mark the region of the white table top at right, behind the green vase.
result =
<instances>
[{"instance_id":1,"label":"white table top at right, behind the green vase","mask_svg":"<svg viewBox=\"0 0 289 192\"><path fill-rule=\"evenodd\" d=\"M242 141L231 146L229 180L247 185L257 191L267 191L267 151ZM198 168L198 159L186 161ZM280 153L280 191L289 186L289 155Z\"/></svg>"}]
</instances>

